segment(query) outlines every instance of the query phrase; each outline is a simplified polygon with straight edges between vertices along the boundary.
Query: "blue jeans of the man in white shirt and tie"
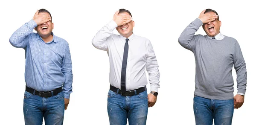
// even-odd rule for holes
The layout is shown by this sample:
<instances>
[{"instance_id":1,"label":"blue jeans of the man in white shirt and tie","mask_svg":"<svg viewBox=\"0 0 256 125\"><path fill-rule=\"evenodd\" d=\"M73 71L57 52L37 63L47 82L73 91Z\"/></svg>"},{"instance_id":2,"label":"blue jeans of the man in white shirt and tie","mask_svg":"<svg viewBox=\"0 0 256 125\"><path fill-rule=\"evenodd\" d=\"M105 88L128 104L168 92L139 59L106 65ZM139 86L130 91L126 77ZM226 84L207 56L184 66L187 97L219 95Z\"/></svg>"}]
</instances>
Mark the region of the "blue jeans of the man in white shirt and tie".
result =
<instances>
[{"instance_id":1,"label":"blue jeans of the man in white shirt and tie","mask_svg":"<svg viewBox=\"0 0 256 125\"><path fill-rule=\"evenodd\" d=\"M108 91L108 117L110 125L146 125L148 94L144 91L134 96L122 96Z\"/></svg>"}]
</instances>

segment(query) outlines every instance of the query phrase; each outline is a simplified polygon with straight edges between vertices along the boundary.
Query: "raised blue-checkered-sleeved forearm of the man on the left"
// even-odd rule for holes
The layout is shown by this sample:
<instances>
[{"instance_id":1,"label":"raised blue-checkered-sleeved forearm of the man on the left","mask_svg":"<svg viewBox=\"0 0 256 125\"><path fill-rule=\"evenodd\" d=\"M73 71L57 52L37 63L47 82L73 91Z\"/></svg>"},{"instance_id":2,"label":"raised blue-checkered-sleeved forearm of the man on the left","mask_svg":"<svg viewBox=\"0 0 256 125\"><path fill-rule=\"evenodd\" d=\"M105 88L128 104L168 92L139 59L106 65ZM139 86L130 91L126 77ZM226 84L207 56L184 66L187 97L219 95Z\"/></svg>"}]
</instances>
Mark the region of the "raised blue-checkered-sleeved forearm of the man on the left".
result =
<instances>
[{"instance_id":1,"label":"raised blue-checkered-sleeved forearm of the man on the left","mask_svg":"<svg viewBox=\"0 0 256 125\"><path fill-rule=\"evenodd\" d=\"M33 32L33 29L36 26L37 24L35 23L35 21L30 20L19 29L17 29L9 39L12 46L17 48L25 48L29 41L29 38L27 36Z\"/></svg>"}]
</instances>

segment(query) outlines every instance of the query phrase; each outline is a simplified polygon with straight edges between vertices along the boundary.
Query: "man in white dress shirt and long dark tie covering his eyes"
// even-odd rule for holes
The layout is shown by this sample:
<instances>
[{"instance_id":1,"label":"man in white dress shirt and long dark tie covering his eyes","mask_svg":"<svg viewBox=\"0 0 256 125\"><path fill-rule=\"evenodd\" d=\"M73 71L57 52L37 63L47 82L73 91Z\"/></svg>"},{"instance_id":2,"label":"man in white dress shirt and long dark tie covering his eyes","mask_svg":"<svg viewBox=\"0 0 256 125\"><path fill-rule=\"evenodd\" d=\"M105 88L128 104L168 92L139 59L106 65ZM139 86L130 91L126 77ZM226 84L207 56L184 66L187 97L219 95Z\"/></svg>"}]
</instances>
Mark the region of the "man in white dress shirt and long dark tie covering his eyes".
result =
<instances>
[{"instance_id":1,"label":"man in white dress shirt and long dark tie covering his eyes","mask_svg":"<svg viewBox=\"0 0 256 125\"><path fill-rule=\"evenodd\" d=\"M148 107L157 101L160 73L151 42L134 35L131 13L119 9L107 25L96 33L92 44L108 52L110 90L108 116L110 125L145 125ZM116 29L120 35L113 34ZM147 94L148 72L151 93Z\"/></svg>"}]
</instances>

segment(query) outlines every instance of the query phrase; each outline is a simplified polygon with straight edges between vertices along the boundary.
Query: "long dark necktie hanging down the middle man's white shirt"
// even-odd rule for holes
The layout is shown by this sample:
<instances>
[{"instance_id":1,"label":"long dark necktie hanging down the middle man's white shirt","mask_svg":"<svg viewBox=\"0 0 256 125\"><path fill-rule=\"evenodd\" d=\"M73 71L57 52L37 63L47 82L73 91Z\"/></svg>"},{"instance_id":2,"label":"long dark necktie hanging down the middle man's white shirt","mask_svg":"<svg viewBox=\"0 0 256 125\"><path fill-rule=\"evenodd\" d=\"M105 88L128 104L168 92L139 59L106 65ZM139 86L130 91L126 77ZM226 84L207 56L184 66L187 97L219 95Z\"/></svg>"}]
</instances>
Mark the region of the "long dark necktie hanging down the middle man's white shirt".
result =
<instances>
[{"instance_id":1,"label":"long dark necktie hanging down the middle man's white shirt","mask_svg":"<svg viewBox=\"0 0 256 125\"><path fill-rule=\"evenodd\" d=\"M126 76L126 65L127 65L127 57L128 57L128 41L129 39L125 39L125 49L124 49L124 55L123 55L123 61L122 61L122 72L121 72L121 92L125 93L126 87L125 87L125 76Z\"/></svg>"}]
</instances>

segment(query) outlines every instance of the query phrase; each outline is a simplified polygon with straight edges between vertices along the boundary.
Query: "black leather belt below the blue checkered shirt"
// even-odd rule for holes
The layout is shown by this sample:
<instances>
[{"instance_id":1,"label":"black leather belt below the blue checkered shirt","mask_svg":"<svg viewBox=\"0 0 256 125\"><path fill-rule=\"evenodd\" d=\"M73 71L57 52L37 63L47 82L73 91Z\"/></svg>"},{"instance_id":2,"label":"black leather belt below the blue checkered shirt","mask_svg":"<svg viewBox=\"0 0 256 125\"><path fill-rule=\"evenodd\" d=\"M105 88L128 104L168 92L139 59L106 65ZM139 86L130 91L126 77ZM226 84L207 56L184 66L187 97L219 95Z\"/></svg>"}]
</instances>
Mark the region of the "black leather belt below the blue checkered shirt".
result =
<instances>
[{"instance_id":1,"label":"black leather belt below the blue checkered shirt","mask_svg":"<svg viewBox=\"0 0 256 125\"><path fill-rule=\"evenodd\" d=\"M34 89L26 86L26 91L29 92L29 93L32 93L34 95L38 95L40 97L47 98L47 97L58 95L58 93L62 92L62 87L59 87L59 88L57 88L55 90L52 90L52 91L49 91L49 92L38 92L37 90L34 90Z\"/></svg>"}]
</instances>

